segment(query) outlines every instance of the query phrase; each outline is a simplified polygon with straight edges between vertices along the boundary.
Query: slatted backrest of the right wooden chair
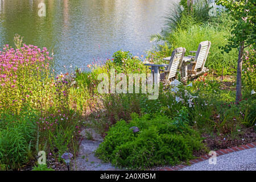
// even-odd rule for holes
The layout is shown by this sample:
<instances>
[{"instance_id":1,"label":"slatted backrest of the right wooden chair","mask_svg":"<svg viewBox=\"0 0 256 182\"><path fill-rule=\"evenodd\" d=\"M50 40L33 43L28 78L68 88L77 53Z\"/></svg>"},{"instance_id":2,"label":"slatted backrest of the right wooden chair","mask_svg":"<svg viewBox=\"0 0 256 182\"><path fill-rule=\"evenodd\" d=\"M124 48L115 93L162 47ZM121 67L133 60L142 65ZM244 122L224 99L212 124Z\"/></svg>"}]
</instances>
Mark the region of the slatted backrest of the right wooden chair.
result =
<instances>
[{"instance_id":1,"label":"slatted backrest of the right wooden chair","mask_svg":"<svg viewBox=\"0 0 256 182\"><path fill-rule=\"evenodd\" d=\"M195 61L196 61L195 69L204 68L204 64L205 64L205 61L207 60L207 56L209 53L209 49L210 49L209 41L204 41L199 44L199 47L197 49L196 56L195 56Z\"/></svg>"}]
</instances>

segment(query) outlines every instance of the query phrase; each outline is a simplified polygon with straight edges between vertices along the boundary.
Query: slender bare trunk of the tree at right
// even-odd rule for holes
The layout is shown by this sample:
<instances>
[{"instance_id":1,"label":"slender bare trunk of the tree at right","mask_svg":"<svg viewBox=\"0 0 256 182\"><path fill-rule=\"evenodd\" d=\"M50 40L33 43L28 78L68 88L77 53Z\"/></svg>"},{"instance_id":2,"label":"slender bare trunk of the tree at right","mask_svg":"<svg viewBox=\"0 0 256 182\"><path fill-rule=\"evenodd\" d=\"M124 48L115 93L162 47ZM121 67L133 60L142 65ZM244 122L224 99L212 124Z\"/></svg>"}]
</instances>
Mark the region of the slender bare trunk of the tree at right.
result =
<instances>
[{"instance_id":1,"label":"slender bare trunk of the tree at right","mask_svg":"<svg viewBox=\"0 0 256 182\"><path fill-rule=\"evenodd\" d=\"M236 104L242 99L242 64L243 64L243 49L245 42L240 44L239 55L237 61L237 92L236 92Z\"/></svg>"}]
</instances>

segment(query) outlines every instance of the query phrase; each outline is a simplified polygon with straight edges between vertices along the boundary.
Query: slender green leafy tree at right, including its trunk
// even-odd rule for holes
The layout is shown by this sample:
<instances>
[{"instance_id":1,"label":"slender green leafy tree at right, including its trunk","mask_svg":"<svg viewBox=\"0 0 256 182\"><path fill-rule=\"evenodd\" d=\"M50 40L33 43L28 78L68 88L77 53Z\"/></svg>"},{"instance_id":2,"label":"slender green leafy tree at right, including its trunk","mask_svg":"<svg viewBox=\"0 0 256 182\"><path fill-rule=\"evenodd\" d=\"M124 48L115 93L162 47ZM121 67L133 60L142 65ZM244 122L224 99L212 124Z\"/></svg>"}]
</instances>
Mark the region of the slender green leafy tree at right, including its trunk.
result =
<instances>
[{"instance_id":1,"label":"slender green leafy tree at right, including its trunk","mask_svg":"<svg viewBox=\"0 0 256 182\"><path fill-rule=\"evenodd\" d=\"M237 88L236 102L242 98L242 62L243 50L247 46L255 46L255 2L256 0L218 0L217 5L222 5L236 21L234 21L229 43L222 47L225 52L232 48L239 48L237 61Z\"/></svg>"}]
</instances>

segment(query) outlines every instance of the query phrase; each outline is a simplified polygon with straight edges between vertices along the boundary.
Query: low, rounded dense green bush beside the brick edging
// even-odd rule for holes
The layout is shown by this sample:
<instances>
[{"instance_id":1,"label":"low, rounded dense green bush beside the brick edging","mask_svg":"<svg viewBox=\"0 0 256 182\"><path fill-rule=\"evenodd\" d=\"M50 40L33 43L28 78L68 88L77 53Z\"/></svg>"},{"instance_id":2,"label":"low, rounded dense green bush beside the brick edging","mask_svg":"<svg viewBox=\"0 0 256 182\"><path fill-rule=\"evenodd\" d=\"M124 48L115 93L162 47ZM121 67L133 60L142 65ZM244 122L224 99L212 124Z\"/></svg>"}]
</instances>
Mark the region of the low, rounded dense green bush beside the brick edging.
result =
<instances>
[{"instance_id":1,"label":"low, rounded dense green bush beside the brick edging","mask_svg":"<svg viewBox=\"0 0 256 182\"><path fill-rule=\"evenodd\" d=\"M164 115L117 122L108 131L96 155L115 166L129 169L146 169L164 164L179 164L193 158L192 152L203 146L195 130L187 125L188 112L183 108L175 119ZM132 126L139 128L133 133Z\"/></svg>"}]
</instances>

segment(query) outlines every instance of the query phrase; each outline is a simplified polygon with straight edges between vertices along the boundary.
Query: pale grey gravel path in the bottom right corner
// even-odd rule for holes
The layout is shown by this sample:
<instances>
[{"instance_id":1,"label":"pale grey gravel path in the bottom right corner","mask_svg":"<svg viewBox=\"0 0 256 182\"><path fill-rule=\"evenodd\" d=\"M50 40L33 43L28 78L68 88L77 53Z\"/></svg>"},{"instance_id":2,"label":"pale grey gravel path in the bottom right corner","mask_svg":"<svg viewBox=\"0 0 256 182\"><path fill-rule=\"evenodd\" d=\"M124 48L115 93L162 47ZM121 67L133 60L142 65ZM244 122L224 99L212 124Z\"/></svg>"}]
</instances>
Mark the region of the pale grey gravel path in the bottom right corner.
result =
<instances>
[{"instance_id":1,"label":"pale grey gravel path in the bottom right corner","mask_svg":"<svg viewBox=\"0 0 256 182\"><path fill-rule=\"evenodd\" d=\"M180 171L256 171L256 148L218 156L216 165L205 160Z\"/></svg>"}]
</instances>

